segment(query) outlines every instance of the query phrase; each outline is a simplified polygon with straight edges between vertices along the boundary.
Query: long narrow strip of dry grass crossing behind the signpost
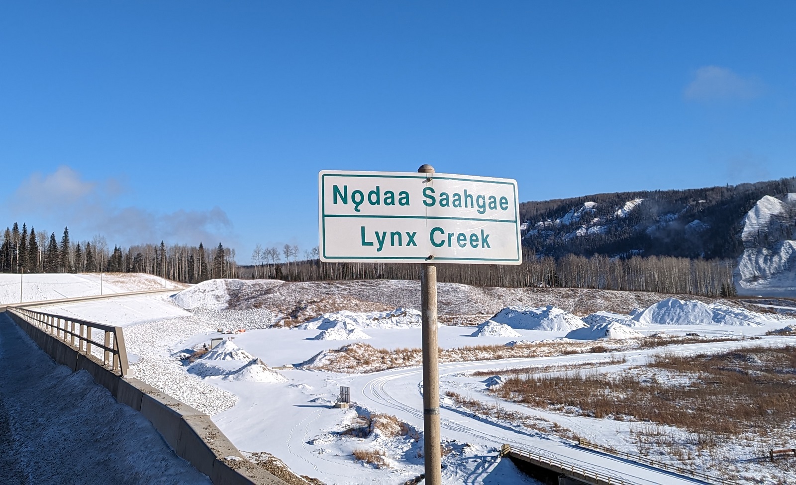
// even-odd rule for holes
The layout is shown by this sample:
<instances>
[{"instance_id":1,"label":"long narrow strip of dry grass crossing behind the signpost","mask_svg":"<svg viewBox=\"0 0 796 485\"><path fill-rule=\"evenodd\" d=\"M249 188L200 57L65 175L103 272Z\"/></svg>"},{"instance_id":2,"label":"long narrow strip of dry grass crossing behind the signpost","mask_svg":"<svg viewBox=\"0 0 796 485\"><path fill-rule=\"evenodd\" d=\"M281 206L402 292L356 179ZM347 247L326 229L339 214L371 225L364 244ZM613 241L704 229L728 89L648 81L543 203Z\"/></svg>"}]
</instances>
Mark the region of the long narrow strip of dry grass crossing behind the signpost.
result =
<instances>
[{"instance_id":1,"label":"long narrow strip of dry grass crossing behind the signpost","mask_svg":"<svg viewBox=\"0 0 796 485\"><path fill-rule=\"evenodd\" d=\"M754 338L754 337L753 337ZM504 358L554 357L571 354L601 354L621 350L648 349L667 345L688 343L727 342L739 340L734 337L647 337L609 342L534 342L524 346L502 345L463 346L455 349L439 349L439 362L472 362ZM305 368L363 374L399 367L419 366L423 363L420 349L377 349L366 343L352 343L335 350L320 364L306 363Z\"/></svg>"}]
</instances>

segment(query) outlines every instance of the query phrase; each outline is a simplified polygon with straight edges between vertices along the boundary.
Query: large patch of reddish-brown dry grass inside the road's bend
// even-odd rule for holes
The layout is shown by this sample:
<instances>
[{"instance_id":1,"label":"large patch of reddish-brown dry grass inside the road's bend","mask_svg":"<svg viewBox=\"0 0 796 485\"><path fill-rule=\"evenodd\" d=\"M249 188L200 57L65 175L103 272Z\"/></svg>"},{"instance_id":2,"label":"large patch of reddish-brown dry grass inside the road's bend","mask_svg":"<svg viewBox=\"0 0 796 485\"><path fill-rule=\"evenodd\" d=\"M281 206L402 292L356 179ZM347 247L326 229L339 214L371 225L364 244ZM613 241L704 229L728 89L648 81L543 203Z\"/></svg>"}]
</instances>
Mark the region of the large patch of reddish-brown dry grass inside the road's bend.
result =
<instances>
[{"instance_id":1,"label":"large patch of reddish-brown dry grass inside the road's bend","mask_svg":"<svg viewBox=\"0 0 796 485\"><path fill-rule=\"evenodd\" d=\"M794 347L755 347L717 355L662 356L650 367L688 385L622 376L510 377L492 392L546 409L591 417L649 420L696 433L767 436L794 419Z\"/></svg>"}]
</instances>

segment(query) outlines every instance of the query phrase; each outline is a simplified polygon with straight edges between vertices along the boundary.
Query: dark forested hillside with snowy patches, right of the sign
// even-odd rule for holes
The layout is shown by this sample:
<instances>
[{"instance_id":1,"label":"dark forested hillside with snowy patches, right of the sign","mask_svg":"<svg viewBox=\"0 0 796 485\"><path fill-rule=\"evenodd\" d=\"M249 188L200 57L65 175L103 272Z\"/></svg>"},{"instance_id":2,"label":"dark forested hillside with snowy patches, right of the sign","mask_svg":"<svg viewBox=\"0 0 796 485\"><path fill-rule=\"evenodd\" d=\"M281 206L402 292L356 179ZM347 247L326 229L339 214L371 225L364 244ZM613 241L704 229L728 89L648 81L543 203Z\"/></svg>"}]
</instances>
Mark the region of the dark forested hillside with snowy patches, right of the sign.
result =
<instances>
[{"instance_id":1,"label":"dark forested hillside with snowy patches, right of the sign","mask_svg":"<svg viewBox=\"0 0 796 485\"><path fill-rule=\"evenodd\" d=\"M594 194L520 205L524 243L539 256L678 256L733 259L743 216L796 178L738 186Z\"/></svg>"}]
</instances>

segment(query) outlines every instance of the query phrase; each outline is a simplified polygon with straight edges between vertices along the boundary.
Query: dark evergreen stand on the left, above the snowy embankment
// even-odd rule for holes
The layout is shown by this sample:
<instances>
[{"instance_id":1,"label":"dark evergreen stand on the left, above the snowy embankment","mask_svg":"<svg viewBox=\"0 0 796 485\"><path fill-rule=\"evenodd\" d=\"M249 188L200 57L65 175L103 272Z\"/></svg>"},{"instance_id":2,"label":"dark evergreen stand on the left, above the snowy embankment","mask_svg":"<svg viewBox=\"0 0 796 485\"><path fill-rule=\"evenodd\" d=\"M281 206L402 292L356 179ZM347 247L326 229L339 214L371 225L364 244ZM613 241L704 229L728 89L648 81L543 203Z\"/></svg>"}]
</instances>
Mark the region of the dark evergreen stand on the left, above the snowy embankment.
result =
<instances>
[{"instance_id":1,"label":"dark evergreen stand on the left, above the snowy embankment","mask_svg":"<svg viewBox=\"0 0 796 485\"><path fill-rule=\"evenodd\" d=\"M37 231L23 223L6 227L0 239L0 272L78 273L142 272L182 283L237 277L235 250L172 244L136 244L111 249L102 236L72 241L68 227L60 241L55 233Z\"/></svg>"}]
</instances>

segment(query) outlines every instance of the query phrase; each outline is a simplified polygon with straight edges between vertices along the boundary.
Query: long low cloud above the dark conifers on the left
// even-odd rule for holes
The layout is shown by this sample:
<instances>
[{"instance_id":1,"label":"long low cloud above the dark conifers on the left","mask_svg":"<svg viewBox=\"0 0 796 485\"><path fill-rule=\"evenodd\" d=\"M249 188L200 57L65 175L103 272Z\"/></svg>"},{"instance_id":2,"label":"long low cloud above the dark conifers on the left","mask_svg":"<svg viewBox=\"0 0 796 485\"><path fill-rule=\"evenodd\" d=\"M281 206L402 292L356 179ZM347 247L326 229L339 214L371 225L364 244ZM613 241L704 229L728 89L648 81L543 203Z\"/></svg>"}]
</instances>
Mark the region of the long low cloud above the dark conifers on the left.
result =
<instances>
[{"instance_id":1,"label":"long low cloud above the dark conifers on the left","mask_svg":"<svg viewBox=\"0 0 796 485\"><path fill-rule=\"evenodd\" d=\"M90 181L68 166L51 174L34 173L10 195L6 207L10 217L27 221L36 229L55 224L59 233L68 225L73 237L90 239L95 233L111 244L167 243L214 245L233 244L232 221L224 210L179 209L154 213L140 207L119 207L116 203L123 185L108 178ZM49 229L53 231L53 229Z\"/></svg>"}]
</instances>

